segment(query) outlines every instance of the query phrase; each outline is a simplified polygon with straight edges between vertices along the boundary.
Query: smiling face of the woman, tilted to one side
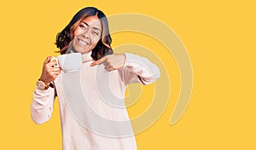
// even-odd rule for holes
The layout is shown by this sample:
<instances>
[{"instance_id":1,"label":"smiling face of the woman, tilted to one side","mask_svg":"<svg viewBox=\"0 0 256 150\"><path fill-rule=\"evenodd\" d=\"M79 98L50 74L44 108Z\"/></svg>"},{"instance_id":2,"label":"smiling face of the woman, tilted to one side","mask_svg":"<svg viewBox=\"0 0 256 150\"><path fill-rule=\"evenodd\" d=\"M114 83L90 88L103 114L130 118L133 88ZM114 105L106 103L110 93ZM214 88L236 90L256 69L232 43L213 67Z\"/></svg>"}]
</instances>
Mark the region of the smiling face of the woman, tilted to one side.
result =
<instances>
[{"instance_id":1,"label":"smiling face of the woman, tilted to one side","mask_svg":"<svg viewBox=\"0 0 256 150\"><path fill-rule=\"evenodd\" d=\"M95 48L101 35L100 20L96 16L86 17L74 31L73 48L79 53L88 53Z\"/></svg>"}]
</instances>

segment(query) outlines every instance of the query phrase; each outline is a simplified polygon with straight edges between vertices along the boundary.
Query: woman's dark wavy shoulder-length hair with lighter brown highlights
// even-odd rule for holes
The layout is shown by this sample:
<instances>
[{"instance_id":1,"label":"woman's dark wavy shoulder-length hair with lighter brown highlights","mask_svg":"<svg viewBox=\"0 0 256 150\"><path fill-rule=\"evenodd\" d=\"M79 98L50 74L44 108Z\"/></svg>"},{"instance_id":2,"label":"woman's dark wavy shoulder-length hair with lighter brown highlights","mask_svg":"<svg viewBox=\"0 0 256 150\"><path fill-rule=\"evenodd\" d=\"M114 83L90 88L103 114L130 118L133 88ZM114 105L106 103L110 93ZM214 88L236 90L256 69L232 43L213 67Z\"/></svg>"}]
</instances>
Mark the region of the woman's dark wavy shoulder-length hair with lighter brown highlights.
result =
<instances>
[{"instance_id":1,"label":"woman's dark wavy shoulder-length hair with lighter brown highlights","mask_svg":"<svg viewBox=\"0 0 256 150\"><path fill-rule=\"evenodd\" d=\"M75 29L79 26L79 23L88 16L97 16L102 25L101 38L96 44L96 47L92 49L91 57L94 60L99 60L104 55L113 54L113 50L110 46L112 39L109 34L107 17L101 10L94 7L79 10L79 12L73 16L69 24L57 34L55 45L60 49L60 51L57 52L60 52L61 55L66 54L67 48L74 38L73 34Z\"/></svg>"}]
</instances>

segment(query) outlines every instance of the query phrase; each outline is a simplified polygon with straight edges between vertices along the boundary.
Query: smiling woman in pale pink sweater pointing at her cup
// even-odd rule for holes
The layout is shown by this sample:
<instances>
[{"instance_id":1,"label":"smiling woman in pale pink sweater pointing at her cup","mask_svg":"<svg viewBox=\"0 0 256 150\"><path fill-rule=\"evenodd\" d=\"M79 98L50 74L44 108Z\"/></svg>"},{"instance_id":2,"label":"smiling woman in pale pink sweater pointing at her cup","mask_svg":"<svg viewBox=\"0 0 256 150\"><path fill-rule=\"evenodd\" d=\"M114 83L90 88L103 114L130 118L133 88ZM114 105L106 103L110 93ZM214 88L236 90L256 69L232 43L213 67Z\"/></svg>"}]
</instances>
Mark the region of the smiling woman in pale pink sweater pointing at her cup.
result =
<instances>
[{"instance_id":1,"label":"smiling woman in pale pink sweater pointing at her cup","mask_svg":"<svg viewBox=\"0 0 256 150\"><path fill-rule=\"evenodd\" d=\"M77 74L65 73L47 57L33 93L32 120L48 121L58 96L63 149L137 149L125 109L126 85L153 83L158 67L138 55L113 54L108 20L92 7L75 14L55 44L61 55L81 53L83 64Z\"/></svg>"}]
</instances>

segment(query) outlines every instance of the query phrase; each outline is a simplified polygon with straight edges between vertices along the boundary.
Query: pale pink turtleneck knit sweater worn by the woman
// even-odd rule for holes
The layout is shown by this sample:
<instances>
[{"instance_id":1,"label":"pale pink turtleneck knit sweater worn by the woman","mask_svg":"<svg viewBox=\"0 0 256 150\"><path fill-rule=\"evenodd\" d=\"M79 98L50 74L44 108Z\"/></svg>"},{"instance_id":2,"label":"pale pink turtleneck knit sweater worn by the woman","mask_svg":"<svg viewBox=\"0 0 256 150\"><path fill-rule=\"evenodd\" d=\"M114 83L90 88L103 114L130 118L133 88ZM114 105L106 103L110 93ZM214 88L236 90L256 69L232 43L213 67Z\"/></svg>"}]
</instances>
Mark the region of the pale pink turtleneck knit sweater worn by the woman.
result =
<instances>
[{"instance_id":1,"label":"pale pink turtleneck knit sweater worn by the woman","mask_svg":"<svg viewBox=\"0 0 256 150\"><path fill-rule=\"evenodd\" d=\"M125 53L125 65L107 72L103 64L90 66L90 54L83 55L79 72L61 72L54 81L55 89L34 90L32 120L36 124L48 121L57 95L64 150L135 150L125 108L126 85L151 84L160 71L148 59Z\"/></svg>"}]
</instances>

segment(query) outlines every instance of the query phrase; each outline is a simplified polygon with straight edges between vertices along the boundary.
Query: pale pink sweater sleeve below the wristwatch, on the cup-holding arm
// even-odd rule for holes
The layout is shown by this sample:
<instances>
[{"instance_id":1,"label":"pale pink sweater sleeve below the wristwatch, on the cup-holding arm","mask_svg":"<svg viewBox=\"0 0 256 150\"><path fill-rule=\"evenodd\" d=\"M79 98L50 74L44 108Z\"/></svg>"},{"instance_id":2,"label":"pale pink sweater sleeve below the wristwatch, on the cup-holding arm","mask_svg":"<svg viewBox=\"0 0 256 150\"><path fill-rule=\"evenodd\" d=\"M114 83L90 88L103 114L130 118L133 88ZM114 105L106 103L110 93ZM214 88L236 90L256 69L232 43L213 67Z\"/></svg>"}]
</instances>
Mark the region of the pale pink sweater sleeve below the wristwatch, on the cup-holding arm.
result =
<instances>
[{"instance_id":1,"label":"pale pink sweater sleeve below the wristwatch, on the cup-holding arm","mask_svg":"<svg viewBox=\"0 0 256 150\"><path fill-rule=\"evenodd\" d=\"M40 90L36 88L33 92L31 103L31 117L36 124L43 124L48 121L53 112L53 103L55 100L55 89L49 88Z\"/></svg>"}]
</instances>

